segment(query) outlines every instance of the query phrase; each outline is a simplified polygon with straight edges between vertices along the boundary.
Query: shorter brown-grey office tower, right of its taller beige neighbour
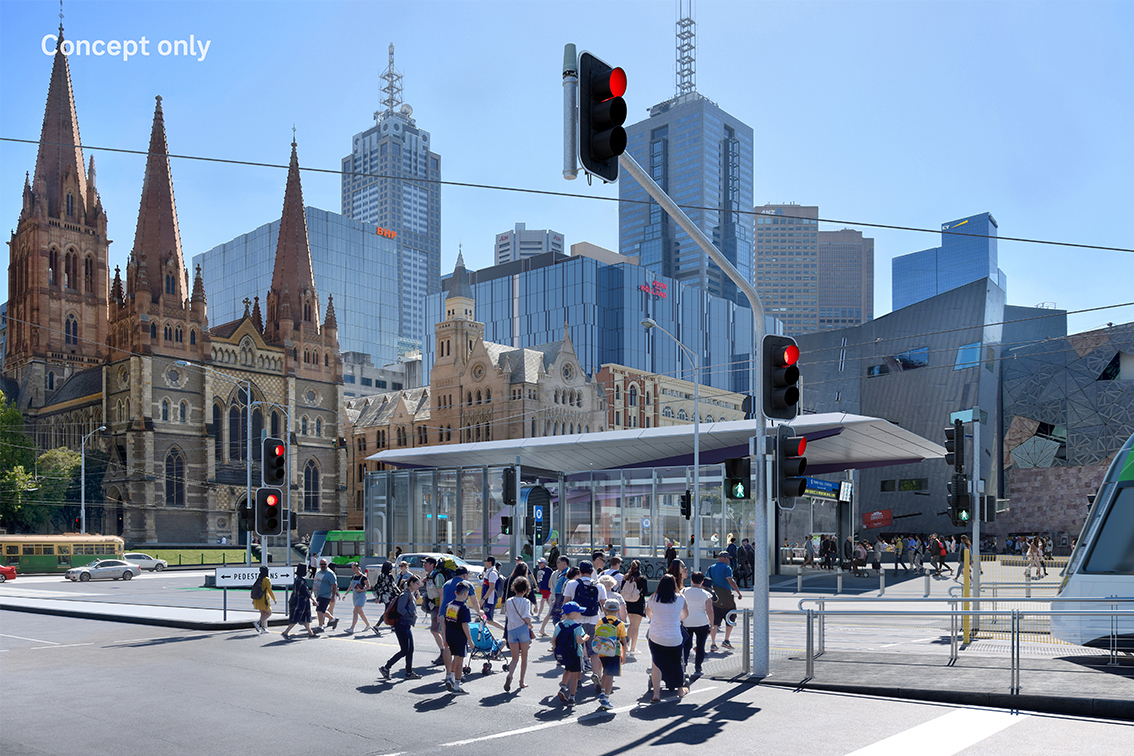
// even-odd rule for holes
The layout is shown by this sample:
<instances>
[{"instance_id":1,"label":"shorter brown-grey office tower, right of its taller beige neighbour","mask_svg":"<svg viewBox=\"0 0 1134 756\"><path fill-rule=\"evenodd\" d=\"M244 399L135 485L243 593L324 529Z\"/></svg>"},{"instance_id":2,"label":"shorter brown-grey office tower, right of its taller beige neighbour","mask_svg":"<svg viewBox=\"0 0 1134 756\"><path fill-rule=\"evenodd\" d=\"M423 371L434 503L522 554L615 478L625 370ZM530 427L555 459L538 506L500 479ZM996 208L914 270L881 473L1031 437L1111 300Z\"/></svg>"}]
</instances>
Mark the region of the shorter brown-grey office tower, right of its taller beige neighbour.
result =
<instances>
[{"instance_id":1,"label":"shorter brown-grey office tower, right of its taller beige neighbour","mask_svg":"<svg viewBox=\"0 0 1134 756\"><path fill-rule=\"evenodd\" d=\"M819 232L819 331L874 320L874 240L855 229Z\"/></svg>"}]
</instances>

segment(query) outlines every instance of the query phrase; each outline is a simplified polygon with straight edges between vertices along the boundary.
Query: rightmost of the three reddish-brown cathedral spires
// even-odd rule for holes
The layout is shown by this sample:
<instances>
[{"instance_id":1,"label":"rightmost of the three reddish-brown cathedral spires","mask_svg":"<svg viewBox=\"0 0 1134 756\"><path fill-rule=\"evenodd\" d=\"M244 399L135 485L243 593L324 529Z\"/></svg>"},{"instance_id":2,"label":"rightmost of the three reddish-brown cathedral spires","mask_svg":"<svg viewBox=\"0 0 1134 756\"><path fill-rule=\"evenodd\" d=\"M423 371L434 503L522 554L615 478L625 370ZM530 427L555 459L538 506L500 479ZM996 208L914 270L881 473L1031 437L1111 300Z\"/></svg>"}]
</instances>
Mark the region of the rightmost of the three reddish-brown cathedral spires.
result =
<instances>
[{"instance_id":1,"label":"rightmost of the three reddish-brown cathedral spires","mask_svg":"<svg viewBox=\"0 0 1134 756\"><path fill-rule=\"evenodd\" d=\"M307 241L307 214L303 207L303 186L299 181L299 156L291 142L291 162L288 165L287 188L284 190L284 215L280 219L279 241L276 246L276 267L268 300L268 333L279 341L290 338L284 333L281 321L290 316L295 323L311 323L319 329L319 299L315 296L315 275L311 266L311 247Z\"/></svg>"}]
</instances>

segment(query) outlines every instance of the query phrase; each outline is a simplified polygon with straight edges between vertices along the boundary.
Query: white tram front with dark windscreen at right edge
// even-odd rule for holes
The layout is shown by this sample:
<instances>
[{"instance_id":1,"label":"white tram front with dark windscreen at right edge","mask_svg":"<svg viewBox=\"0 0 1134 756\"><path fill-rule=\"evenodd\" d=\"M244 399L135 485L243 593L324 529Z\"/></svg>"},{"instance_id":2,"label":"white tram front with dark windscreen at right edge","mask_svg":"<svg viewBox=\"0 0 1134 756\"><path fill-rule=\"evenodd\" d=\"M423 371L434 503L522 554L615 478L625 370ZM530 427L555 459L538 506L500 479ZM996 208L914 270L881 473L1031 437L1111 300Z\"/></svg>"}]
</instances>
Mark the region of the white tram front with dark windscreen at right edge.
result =
<instances>
[{"instance_id":1,"label":"white tram front with dark windscreen at right edge","mask_svg":"<svg viewBox=\"0 0 1134 756\"><path fill-rule=\"evenodd\" d=\"M1059 601L1093 596L1134 598L1134 436L1115 456L1099 486L1051 609L1134 611L1129 603ZM1119 649L1134 652L1134 615L1052 617L1051 635L1067 643L1103 648L1109 648L1112 635L1117 635Z\"/></svg>"}]
</instances>

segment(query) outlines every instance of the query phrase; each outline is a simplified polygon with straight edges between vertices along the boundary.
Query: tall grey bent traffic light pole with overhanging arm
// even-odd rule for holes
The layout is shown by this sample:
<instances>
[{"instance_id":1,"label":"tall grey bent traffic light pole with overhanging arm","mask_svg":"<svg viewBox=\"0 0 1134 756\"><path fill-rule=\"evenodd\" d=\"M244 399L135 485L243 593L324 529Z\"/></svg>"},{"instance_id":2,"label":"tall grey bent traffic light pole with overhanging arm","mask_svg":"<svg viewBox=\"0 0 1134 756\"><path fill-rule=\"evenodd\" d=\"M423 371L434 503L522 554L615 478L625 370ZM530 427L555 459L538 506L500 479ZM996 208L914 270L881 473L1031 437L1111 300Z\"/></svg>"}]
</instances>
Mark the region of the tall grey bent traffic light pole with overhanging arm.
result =
<instances>
[{"instance_id":1,"label":"tall grey bent traffic light pole with overhanging arm","mask_svg":"<svg viewBox=\"0 0 1134 756\"><path fill-rule=\"evenodd\" d=\"M753 338L753 369L750 371L752 376L752 396L762 397L763 396L763 374L761 369L756 369L756 365L762 365L762 355L756 354L759 350L763 349L764 340L764 306L760 301L760 295L752 287L752 283L747 281L741 272L733 266L730 262L721 254L720 249L713 246L712 240L704 235L704 232L697 228L697 226L689 220L688 215L677 206L669 195L658 186L657 181L646 173L637 161L629 155L629 153L624 152L618 156L618 164L629 173L638 185L645 189L654 202L657 202L662 210L672 218L682 230L689 235L689 238L697 243L697 246L709 255L709 260L717 263L717 266L729 280L731 280L736 288L744 292L744 296L748 299L748 305L752 307L752 338ZM756 424L756 435L753 436L754 441L753 449L756 451L762 451L764 449L764 426L767 425L767 419L764 418L764 410L761 406L758 410L756 418L759 423ZM753 492L753 501L755 506L763 503L764 512L763 517L759 513L753 517L755 523L755 532L753 533L753 540L755 541L755 563L753 564L753 591L752 591L752 622L755 629L755 642L752 644L752 676L758 678L768 677L769 668L769 629L768 629L768 611L769 611L769 585L768 575L769 566L772 563L772 553L775 549L773 543L768 538L768 532L771 527L772 518L776 517L776 509L770 502L770 496L767 491L767 481L764 476L756 476L756 490ZM700 492L697 492L700 494ZM700 544L697 544L700 546Z\"/></svg>"}]
</instances>

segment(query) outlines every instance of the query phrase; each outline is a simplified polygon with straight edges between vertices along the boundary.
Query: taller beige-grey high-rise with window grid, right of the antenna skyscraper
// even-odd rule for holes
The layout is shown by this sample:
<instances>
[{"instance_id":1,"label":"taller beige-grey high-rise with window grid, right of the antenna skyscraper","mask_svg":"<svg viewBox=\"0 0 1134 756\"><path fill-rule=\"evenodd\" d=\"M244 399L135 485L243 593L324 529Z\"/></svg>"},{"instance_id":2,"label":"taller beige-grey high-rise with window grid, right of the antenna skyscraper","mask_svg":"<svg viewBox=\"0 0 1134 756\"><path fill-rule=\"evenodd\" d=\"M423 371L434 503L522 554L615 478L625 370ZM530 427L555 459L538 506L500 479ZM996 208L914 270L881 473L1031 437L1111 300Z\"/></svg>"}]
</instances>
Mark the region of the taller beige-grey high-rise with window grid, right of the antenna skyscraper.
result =
<instances>
[{"instance_id":1,"label":"taller beige-grey high-rise with window grid, right of the antenna skyscraper","mask_svg":"<svg viewBox=\"0 0 1134 756\"><path fill-rule=\"evenodd\" d=\"M755 209L755 289L789 335L819 330L819 207Z\"/></svg>"}]
</instances>

